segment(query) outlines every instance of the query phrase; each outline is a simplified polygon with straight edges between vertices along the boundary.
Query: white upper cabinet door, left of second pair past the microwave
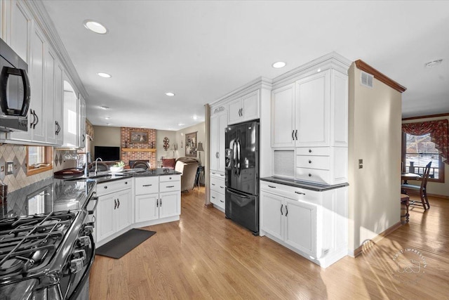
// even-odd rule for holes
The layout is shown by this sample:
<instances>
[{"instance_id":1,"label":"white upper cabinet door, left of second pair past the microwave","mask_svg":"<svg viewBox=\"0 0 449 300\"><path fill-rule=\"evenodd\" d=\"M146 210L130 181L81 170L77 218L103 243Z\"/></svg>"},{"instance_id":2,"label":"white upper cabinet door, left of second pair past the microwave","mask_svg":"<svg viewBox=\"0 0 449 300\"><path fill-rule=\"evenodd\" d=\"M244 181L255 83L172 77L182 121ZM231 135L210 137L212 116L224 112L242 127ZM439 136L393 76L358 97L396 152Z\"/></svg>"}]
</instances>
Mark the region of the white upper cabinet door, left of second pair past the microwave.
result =
<instances>
[{"instance_id":1,"label":"white upper cabinet door, left of second pair past the microwave","mask_svg":"<svg viewBox=\"0 0 449 300\"><path fill-rule=\"evenodd\" d=\"M55 107L55 65L56 56L53 50L47 45L45 51L45 86L43 104L45 109L45 127L47 143L56 143L56 131L58 126L55 124L56 107Z\"/></svg>"}]
</instances>

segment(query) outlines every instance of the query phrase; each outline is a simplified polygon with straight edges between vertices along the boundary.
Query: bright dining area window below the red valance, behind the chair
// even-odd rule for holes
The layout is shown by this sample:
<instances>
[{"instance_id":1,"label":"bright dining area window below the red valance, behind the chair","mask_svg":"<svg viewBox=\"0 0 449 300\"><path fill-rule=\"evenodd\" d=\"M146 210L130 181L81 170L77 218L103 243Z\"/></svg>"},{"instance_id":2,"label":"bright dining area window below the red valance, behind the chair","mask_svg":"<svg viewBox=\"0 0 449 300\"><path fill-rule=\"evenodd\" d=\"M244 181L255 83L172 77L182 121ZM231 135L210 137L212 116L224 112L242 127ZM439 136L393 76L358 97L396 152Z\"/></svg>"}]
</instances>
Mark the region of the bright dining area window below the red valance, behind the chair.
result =
<instances>
[{"instance_id":1,"label":"bright dining area window below the red valance, behind the chair","mask_svg":"<svg viewBox=\"0 0 449 300\"><path fill-rule=\"evenodd\" d=\"M444 164L431 134L421 136L404 134L403 170L408 173L423 174L426 164L431 163L429 181L444 182Z\"/></svg>"}]
</instances>

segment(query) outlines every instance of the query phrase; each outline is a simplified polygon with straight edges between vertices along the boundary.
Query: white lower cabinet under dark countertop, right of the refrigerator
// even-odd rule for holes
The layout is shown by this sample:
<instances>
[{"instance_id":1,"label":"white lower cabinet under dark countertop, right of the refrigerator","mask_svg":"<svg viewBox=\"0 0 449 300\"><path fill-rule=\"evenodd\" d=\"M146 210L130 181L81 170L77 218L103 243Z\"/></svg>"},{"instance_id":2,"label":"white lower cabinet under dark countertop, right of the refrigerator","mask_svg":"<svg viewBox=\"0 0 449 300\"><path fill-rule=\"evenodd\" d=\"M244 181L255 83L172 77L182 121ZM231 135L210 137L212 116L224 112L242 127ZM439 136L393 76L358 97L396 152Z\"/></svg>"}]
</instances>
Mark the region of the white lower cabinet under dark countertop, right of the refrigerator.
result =
<instances>
[{"instance_id":1,"label":"white lower cabinet under dark countertop, right of the refrigerator","mask_svg":"<svg viewBox=\"0 0 449 300\"><path fill-rule=\"evenodd\" d=\"M261 181L260 235L327 268L347 255L347 188L317 192Z\"/></svg>"}]
</instances>

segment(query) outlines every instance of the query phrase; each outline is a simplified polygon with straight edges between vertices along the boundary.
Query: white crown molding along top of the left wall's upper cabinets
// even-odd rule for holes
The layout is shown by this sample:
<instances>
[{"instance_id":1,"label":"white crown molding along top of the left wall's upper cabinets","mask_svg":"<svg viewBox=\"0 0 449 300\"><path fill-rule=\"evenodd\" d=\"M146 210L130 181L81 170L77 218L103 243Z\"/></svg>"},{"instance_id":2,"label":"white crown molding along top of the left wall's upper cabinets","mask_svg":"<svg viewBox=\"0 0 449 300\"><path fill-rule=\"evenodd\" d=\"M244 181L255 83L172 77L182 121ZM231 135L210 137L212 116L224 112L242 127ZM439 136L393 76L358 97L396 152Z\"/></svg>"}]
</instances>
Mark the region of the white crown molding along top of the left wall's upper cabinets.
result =
<instances>
[{"instance_id":1,"label":"white crown molding along top of the left wall's upper cabinets","mask_svg":"<svg viewBox=\"0 0 449 300\"><path fill-rule=\"evenodd\" d=\"M58 55L60 62L64 66L65 72L72 80L72 84L76 86L76 88L78 89L79 93L81 93L83 98L87 99L88 92L86 91L86 88L84 87L81 78L79 78L78 72L76 72L75 66L73 65L72 60L70 59L69 53L67 53L67 50L65 49L65 46L62 43L62 40L55 28L55 25L53 24L53 20L51 20L50 15L48 15L48 12L46 11L45 6L43 6L42 1L41 0L22 1L22 3L27 5L29 11L33 15L34 22L36 22L37 25L39 25L39 27L43 31L43 34L45 34L49 43L51 44L53 49L55 49L55 53Z\"/></svg>"}]
</instances>

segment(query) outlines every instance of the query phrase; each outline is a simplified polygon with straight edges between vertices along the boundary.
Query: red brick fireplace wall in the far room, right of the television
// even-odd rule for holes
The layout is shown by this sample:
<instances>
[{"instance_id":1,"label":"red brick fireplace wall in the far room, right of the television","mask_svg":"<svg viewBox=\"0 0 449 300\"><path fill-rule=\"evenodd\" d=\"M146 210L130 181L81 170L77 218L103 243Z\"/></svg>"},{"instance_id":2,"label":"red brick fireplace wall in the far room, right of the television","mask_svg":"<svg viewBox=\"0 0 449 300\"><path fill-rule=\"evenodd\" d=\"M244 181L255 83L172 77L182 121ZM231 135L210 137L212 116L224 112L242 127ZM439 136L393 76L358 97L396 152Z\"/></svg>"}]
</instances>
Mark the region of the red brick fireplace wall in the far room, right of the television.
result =
<instances>
[{"instance_id":1,"label":"red brick fireplace wall in the far room, right of the television","mask_svg":"<svg viewBox=\"0 0 449 300\"><path fill-rule=\"evenodd\" d=\"M131 141L131 131L138 136L145 136L146 133L148 141ZM130 160L148 160L152 168L156 167L156 129L121 127L120 144L121 160L126 166Z\"/></svg>"}]
</instances>

